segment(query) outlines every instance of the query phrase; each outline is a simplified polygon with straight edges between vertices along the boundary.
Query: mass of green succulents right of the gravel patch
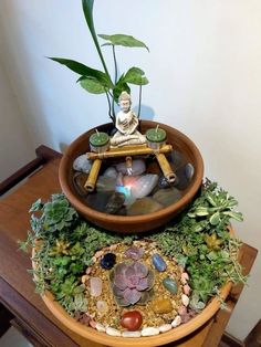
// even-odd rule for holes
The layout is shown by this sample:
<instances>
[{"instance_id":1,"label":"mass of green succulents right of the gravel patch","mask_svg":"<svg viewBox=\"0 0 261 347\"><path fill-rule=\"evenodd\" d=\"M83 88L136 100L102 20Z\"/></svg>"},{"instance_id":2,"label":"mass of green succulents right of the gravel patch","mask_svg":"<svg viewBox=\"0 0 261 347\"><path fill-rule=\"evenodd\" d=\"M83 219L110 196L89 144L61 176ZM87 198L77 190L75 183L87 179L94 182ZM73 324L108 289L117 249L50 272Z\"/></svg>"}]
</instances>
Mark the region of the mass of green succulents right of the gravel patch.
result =
<instances>
[{"instance_id":1,"label":"mass of green succulents right of the gravel patch","mask_svg":"<svg viewBox=\"0 0 261 347\"><path fill-rule=\"evenodd\" d=\"M207 180L179 221L152 236L165 254L186 266L192 288L190 307L195 311L202 309L227 281L246 282L238 262L241 242L228 229L230 219L242 220L242 214L233 211L237 204L228 192Z\"/></svg>"}]
</instances>

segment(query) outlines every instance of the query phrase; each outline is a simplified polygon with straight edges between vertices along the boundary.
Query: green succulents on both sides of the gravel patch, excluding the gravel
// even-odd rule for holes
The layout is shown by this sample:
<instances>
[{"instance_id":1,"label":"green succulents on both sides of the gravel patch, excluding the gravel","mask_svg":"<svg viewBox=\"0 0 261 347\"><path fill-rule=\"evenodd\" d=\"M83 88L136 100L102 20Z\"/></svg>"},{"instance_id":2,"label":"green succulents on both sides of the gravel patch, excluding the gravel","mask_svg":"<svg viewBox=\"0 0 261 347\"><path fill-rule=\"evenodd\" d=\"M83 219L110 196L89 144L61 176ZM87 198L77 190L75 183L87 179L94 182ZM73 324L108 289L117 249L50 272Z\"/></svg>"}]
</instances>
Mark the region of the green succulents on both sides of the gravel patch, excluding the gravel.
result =
<instances>
[{"instance_id":1,"label":"green succulents on both sides of the gravel patch, excluding the gravel","mask_svg":"<svg viewBox=\"0 0 261 347\"><path fill-rule=\"evenodd\" d=\"M192 288L190 307L197 312L211 296L218 295L217 288L227 281L246 282L238 262L241 242L228 230L232 217L242 219L241 213L233 211L236 202L217 183L207 181L188 211L149 236L166 255L186 266ZM39 199L30 211L33 212L32 231L21 249L29 245L36 249L33 256L36 266L31 271L36 292L51 291L70 314L85 312L87 302L81 278L92 265L95 252L143 238L117 235L88 224L63 194L53 194L45 203ZM220 213L218 223L213 223L212 215L217 211Z\"/></svg>"}]
</instances>

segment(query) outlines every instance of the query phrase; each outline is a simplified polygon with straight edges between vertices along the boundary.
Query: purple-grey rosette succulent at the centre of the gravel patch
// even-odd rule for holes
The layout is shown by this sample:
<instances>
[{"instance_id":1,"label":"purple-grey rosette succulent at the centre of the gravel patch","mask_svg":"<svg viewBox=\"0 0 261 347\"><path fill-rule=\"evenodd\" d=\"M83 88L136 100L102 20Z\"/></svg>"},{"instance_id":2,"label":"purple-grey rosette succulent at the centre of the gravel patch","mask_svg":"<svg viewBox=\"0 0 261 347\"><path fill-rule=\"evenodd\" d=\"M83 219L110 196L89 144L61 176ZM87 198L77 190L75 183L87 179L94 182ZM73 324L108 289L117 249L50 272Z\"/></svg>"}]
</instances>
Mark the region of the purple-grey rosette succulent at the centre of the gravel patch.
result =
<instances>
[{"instance_id":1,"label":"purple-grey rosette succulent at the centre of the gravel patch","mask_svg":"<svg viewBox=\"0 0 261 347\"><path fill-rule=\"evenodd\" d=\"M144 305L153 296L154 272L144 263L119 263L111 272L109 280L119 306Z\"/></svg>"}]
</instances>

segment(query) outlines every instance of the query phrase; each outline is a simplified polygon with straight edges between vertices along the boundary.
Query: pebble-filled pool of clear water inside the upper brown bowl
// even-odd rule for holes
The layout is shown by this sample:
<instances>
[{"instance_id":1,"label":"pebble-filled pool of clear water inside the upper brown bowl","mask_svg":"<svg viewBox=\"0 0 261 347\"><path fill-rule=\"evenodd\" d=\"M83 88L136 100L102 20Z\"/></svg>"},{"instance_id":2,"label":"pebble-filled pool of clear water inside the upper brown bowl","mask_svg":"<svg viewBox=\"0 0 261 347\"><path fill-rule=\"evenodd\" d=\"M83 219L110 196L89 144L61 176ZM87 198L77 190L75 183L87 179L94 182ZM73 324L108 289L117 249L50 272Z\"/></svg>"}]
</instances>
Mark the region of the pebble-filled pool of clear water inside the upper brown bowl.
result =
<instances>
[{"instance_id":1,"label":"pebble-filled pool of clear water inside the upper brown bowl","mask_svg":"<svg viewBox=\"0 0 261 347\"><path fill-rule=\"evenodd\" d=\"M194 166L179 150L166 154L175 172L169 183L163 175L155 156L134 156L130 164L125 158L104 160L96 187L87 192L84 185L88 178L92 160L79 156L73 164L73 188L77 197L90 208L117 215L139 215L164 209L186 193L194 178Z\"/></svg>"}]
</instances>

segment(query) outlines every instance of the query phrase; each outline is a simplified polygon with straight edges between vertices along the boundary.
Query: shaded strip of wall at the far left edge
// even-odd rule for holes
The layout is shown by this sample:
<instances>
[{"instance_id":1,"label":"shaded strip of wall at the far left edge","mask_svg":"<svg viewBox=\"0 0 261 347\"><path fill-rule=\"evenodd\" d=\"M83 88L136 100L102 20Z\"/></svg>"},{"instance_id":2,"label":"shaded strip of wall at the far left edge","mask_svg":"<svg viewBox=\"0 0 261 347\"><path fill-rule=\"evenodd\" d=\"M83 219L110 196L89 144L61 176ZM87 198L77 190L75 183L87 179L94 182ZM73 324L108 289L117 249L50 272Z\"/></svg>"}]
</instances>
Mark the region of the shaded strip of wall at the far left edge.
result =
<instances>
[{"instance_id":1,"label":"shaded strip of wall at the far left edge","mask_svg":"<svg viewBox=\"0 0 261 347\"><path fill-rule=\"evenodd\" d=\"M35 157L17 98L4 71L2 53L0 30L0 181Z\"/></svg>"}]
</instances>

